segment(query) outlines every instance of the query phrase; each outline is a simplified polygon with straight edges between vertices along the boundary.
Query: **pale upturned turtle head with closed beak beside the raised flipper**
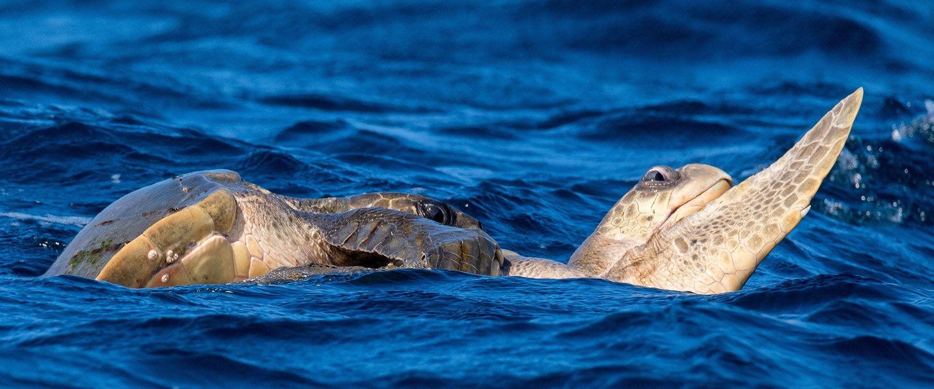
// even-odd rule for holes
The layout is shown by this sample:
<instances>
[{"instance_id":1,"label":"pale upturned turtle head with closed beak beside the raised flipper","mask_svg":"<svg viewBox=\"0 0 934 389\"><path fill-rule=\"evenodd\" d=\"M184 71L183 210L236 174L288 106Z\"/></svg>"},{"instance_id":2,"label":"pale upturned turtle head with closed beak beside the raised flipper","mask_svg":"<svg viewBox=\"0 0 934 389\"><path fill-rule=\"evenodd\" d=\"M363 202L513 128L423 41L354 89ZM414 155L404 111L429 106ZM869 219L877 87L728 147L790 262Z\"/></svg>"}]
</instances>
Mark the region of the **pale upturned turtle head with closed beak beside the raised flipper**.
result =
<instances>
[{"instance_id":1,"label":"pale upturned turtle head with closed beak beside the raised flipper","mask_svg":"<svg viewBox=\"0 0 934 389\"><path fill-rule=\"evenodd\" d=\"M656 166L603 217L595 233L608 239L643 242L698 212L729 189L729 174L691 163L678 169Z\"/></svg>"}]
</instances>

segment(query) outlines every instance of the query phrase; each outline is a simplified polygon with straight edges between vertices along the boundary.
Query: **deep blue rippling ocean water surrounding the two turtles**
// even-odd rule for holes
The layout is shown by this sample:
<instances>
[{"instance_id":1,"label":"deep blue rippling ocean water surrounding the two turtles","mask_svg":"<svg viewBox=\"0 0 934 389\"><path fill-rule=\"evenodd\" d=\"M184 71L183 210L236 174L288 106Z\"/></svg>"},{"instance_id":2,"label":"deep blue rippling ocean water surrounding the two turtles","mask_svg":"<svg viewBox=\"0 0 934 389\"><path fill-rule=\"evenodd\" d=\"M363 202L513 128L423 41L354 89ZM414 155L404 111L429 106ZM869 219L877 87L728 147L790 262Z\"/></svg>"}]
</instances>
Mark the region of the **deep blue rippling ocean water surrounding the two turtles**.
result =
<instances>
[{"instance_id":1,"label":"deep blue rippling ocean water surrounding the two turtles","mask_svg":"<svg viewBox=\"0 0 934 389\"><path fill-rule=\"evenodd\" d=\"M0 385L934 386L934 6L0 2ZM566 260L649 167L742 179L866 98L740 292L383 271L39 278L123 194L407 191Z\"/></svg>"}]
</instances>

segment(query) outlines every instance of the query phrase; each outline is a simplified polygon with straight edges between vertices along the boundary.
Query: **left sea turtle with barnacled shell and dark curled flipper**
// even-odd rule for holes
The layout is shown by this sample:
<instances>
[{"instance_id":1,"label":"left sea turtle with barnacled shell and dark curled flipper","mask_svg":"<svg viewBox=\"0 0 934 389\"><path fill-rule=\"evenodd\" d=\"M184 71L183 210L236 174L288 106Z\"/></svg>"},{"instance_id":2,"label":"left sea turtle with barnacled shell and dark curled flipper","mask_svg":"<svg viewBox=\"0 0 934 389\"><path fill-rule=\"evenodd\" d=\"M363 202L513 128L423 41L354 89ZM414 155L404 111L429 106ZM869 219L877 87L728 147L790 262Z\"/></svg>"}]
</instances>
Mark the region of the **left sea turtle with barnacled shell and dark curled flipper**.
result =
<instances>
[{"instance_id":1,"label":"left sea turtle with barnacled shell and dark curled flipper","mask_svg":"<svg viewBox=\"0 0 934 389\"><path fill-rule=\"evenodd\" d=\"M424 196L298 199L217 170L114 201L45 275L154 287L231 283L305 264L498 274L502 253L473 217Z\"/></svg>"}]
</instances>

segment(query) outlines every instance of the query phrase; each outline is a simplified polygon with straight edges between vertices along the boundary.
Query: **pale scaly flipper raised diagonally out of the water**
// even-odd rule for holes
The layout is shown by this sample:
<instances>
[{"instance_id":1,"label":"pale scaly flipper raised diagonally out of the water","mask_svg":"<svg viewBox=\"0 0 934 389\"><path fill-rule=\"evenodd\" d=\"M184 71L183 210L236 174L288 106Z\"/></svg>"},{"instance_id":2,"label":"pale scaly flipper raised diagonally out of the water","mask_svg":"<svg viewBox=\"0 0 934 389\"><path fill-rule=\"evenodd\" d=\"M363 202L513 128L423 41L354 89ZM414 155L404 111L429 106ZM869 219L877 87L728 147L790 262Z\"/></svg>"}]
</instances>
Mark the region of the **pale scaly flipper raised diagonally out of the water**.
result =
<instances>
[{"instance_id":1,"label":"pale scaly flipper raised diagonally out of the water","mask_svg":"<svg viewBox=\"0 0 934 389\"><path fill-rule=\"evenodd\" d=\"M611 279L696 293L739 290L811 209L862 102L860 88L833 107L767 169L653 236Z\"/></svg>"}]
</instances>

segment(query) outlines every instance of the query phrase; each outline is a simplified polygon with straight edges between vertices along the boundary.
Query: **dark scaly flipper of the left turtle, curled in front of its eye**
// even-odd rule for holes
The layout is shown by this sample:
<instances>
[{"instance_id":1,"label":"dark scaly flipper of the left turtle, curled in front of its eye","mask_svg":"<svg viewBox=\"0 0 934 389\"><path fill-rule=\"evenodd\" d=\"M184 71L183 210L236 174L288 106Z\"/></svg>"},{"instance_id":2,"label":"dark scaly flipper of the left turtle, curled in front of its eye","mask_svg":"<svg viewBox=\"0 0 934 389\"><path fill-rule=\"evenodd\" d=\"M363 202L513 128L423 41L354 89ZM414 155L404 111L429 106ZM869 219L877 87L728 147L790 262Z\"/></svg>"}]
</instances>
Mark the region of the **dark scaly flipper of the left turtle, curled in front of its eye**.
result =
<instances>
[{"instance_id":1,"label":"dark scaly flipper of the left turtle, curled in front of its eye","mask_svg":"<svg viewBox=\"0 0 934 389\"><path fill-rule=\"evenodd\" d=\"M428 268L499 275L502 252L482 229L459 229L386 208L304 214L333 245L337 266Z\"/></svg>"}]
</instances>

